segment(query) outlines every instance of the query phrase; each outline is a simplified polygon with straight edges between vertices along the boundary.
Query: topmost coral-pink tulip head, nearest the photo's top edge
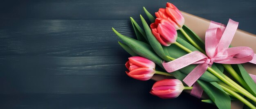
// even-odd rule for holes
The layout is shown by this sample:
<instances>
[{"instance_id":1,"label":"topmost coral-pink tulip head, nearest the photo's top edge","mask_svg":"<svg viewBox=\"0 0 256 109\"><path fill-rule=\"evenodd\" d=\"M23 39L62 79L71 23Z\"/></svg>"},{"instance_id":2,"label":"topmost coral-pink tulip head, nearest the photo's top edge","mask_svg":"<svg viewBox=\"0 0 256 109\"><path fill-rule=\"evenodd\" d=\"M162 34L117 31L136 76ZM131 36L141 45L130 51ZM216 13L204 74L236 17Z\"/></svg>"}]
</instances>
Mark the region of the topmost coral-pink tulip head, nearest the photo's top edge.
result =
<instances>
[{"instance_id":1,"label":"topmost coral-pink tulip head, nearest the photo's top edge","mask_svg":"<svg viewBox=\"0 0 256 109\"><path fill-rule=\"evenodd\" d=\"M166 4L166 9L160 8L158 12L155 13L157 18L168 19L168 21L175 27L176 30L180 30L184 25L184 17L177 7L173 4Z\"/></svg>"}]
</instances>

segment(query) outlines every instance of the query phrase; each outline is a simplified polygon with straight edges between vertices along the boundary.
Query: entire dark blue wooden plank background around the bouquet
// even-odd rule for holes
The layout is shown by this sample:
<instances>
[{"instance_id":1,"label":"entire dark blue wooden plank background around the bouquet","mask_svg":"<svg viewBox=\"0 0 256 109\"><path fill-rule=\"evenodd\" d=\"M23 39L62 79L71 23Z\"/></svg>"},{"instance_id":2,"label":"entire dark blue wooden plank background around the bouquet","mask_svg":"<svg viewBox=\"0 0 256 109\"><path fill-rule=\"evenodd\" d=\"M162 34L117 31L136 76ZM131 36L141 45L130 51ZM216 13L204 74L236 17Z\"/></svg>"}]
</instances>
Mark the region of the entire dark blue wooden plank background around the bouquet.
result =
<instances>
[{"instance_id":1,"label":"entire dark blue wooden plank background around the bouquet","mask_svg":"<svg viewBox=\"0 0 256 109\"><path fill-rule=\"evenodd\" d=\"M167 0L1 0L1 109L215 109L182 93L150 95L154 81L125 74L129 57L112 32L134 37L139 21ZM256 34L256 0L172 0L180 10ZM144 15L145 16L145 15Z\"/></svg>"}]
</instances>

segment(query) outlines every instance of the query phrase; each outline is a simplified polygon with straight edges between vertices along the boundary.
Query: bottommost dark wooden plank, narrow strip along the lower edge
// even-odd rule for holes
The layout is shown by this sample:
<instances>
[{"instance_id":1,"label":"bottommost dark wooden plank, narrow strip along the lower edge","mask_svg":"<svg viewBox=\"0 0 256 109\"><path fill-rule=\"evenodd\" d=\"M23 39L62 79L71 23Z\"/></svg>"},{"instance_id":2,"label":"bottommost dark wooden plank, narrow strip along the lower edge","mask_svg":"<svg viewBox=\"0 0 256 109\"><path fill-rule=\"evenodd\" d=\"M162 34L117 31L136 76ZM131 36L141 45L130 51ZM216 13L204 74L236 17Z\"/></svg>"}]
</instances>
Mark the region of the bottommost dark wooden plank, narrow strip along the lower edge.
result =
<instances>
[{"instance_id":1,"label":"bottommost dark wooden plank, narrow strip along the lower edge","mask_svg":"<svg viewBox=\"0 0 256 109\"><path fill-rule=\"evenodd\" d=\"M0 95L2 109L216 109L189 94L161 99L135 94L19 94ZM186 98L186 99L184 99ZM184 105L186 103L186 105Z\"/></svg>"}]
</instances>

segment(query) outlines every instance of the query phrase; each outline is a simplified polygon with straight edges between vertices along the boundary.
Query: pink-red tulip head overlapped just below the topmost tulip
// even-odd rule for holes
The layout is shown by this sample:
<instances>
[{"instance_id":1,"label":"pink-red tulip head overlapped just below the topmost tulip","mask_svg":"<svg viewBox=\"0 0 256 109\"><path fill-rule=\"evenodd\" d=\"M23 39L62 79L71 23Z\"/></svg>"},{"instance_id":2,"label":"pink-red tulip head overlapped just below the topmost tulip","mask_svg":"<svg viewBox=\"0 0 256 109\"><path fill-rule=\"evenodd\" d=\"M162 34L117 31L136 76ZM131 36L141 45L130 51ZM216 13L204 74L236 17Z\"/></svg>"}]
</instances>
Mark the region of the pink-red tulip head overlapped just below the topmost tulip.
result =
<instances>
[{"instance_id":1,"label":"pink-red tulip head overlapped just below the topmost tulip","mask_svg":"<svg viewBox=\"0 0 256 109\"><path fill-rule=\"evenodd\" d=\"M163 46L170 46L176 42L177 31L167 19L157 18L150 27L155 38Z\"/></svg>"}]
</instances>

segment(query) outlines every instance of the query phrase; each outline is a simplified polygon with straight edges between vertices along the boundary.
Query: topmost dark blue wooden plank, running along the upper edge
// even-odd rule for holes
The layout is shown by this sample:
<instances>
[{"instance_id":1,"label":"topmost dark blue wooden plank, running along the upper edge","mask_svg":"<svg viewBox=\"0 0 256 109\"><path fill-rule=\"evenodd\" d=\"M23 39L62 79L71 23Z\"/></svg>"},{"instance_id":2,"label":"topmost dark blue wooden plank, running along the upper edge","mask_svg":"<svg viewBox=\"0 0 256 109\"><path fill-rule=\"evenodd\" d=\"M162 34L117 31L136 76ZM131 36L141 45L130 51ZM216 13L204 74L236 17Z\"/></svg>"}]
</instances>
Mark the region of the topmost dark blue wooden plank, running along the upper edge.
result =
<instances>
[{"instance_id":1,"label":"topmost dark blue wooden plank, running along the upper edge","mask_svg":"<svg viewBox=\"0 0 256 109\"><path fill-rule=\"evenodd\" d=\"M239 28L255 33L255 0L7 0L0 4L0 19L139 19L142 7L154 13L166 2L180 10L216 22L229 18L240 22Z\"/></svg>"}]
</instances>

